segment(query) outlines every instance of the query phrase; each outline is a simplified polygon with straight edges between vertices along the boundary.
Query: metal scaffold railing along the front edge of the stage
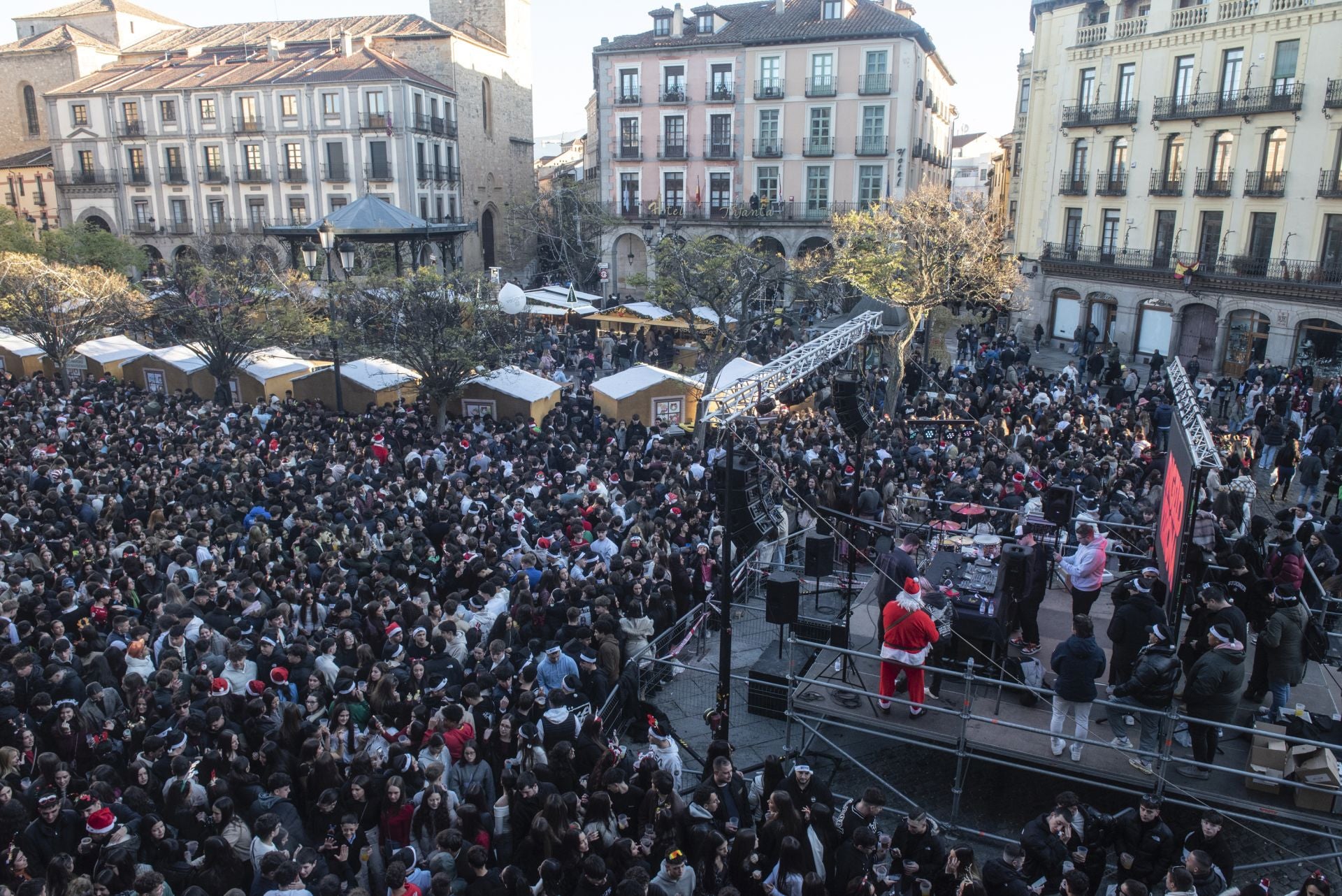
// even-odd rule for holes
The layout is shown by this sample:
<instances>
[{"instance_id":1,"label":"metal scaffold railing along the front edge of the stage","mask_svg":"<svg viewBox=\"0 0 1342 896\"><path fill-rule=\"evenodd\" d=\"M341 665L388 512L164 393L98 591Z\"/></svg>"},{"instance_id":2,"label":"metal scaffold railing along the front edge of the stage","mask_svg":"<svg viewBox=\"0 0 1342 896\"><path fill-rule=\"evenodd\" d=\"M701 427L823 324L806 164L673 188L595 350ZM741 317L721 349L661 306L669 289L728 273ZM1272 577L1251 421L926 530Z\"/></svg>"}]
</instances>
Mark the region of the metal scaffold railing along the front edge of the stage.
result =
<instances>
[{"instance_id":1,"label":"metal scaffold railing along the front edge of the stage","mask_svg":"<svg viewBox=\"0 0 1342 896\"><path fill-rule=\"evenodd\" d=\"M797 637L789 638L789 649L792 651L789 665L793 668L797 667L798 653L808 655L812 651L827 652L828 656L847 655L851 661L863 661L868 665L871 663L880 663L879 655L847 648L836 648L829 644L808 641ZM1206 722L1205 719L1197 719L1180 712L1177 706L1172 706L1169 710L1158 712L1159 734L1157 738L1157 748L1154 751L1143 751L1137 746L1131 748L1115 747L1107 739L1087 739L1083 742L1084 750L1087 751L1102 750L1123 754L1123 769L1127 767L1127 757L1141 757L1149 762L1151 765L1153 774L1150 778L1141 778L1142 786L1135 786L1119 779L1117 775L1107 774L1104 769L1096 767L1092 761L1074 763L1059 759L1057 763L1051 763L1047 759L1048 754L1045 750L1048 748L1048 739L1055 736L1049 731L1047 723L1047 716L1051 715L1049 700L1052 697L1052 691L1049 688L1029 687L1027 684L1013 681L1002 676L1000 671L990 672L988 667L974 663L973 659L970 659L964 668L925 667L929 675L931 672L938 672L942 676L941 693L954 693L958 706L946 706L949 702L943 703L942 700L930 699L925 702L922 707L931 715L931 718L921 718L918 720L906 720L906 708L913 706L906 696L896 693L894 696L882 697L874 691L854 687L845 681L827 677L828 664L816 664L812 669L815 669L816 673L789 675L788 727L784 738L786 748L796 748L800 752L807 752L813 742L820 740L825 744L827 750L836 751L839 755L852 762L856 767L870 774L872 779L880 781L880 783L883 783L891 793L903 798L909 805L914 805L914 801L900 793L898 782L884 779L878 771L855 759L843 748L843 746L827 736L824 730L839 728L860 734L871 734L898 743L954 755L957 762L956 779L951 785L951 811L946 818L946 821L951 825L957 822L961 814L961 797L970 759L1005 769L1020 769L1023 761L1031 762L1032 771L1059 778L1062 781L1075 782L1078 779L1083 779L1095 787L1130 794L1134 798L1146 793L1158 793L1168 802L1192 809L1206 809L1215 805L1223 814L1240 821L1268 824L1287 830L1314 836L1329 836L1319 829L1321 824L1327 824L1327 820L1321 816L1331 814L1335 802L1339 807L1342 807L1342 790L1323 787L1304 781L1288 779L1264 771L1217 766L1196 762L1192 758L1176 757L1174 734L1177 728L1181 724L1201 724ZM1100 692L1103 693L1103 684L1098 684ZM860 706L858 710L851 710L835 700L812 703L805 699L798 699L798 695L812 691L847 693L856 697ZM1045 720L1041 724L1025 724L1002 718L1000 710L1004 696L1009 696L1013 703L1019 703L1016 697L1025 692L1032 692L1039 699L1039 703L1036 704L1037 711L1045 716ZM899 715L894 718L878 715L878 700L890 700L894 707L892 711ZM820 708L821 706L824 708ZM1133 716L1145 711L1131 704L1117 703L1103 697L1096 699L1092 706L1095 711L1102 710L1106 712ZM1290 715L1290 707L1287 708L1287 714ZM949 726L949 728L945 724L938 726L934 722L938 715L951 718L954 719L954 723ZM1223 736L1225 739L1243 735L1249 738L1252 743L1252 738L1255 735L1264 734L1261 730L1231 723L1213 724L1217 724L1217 727L1223 730ZM794 731L797 726L801 728L800 742L797 740ZM1135 734L1135 728L1138 726L1129 727L1134 730ZM1067 720L1064 732L1057 736L1066 740L1068 746L1076 742L1072 736L1071 719ZM1338 743L1327 743L1304 736L1272 732L1271 738L1284 742L1287 754L1295 752L1296 747L1339 748ZM1135 740L1137 738L1134 738L1134 742ZM1227 793L1228 787L1225 786L1225 779L1220 779L1217 782L1213 778L1210 782L1201 782L1201 786L1192 782L1185 783L1182 778L1170 777L1168 774L1173 771L1177 765L1204 769L1212 775L1233 775L1236 779L1243 779L1245 785L1248 782L1257 782L1259 787L1267 787L1268 790L1274 787L1278 789L1279 795L1278 799L1274 801L1268 798L1270 793L1257 790L1252 794L1237 797ZM1292 803L1295 802L1296 793L1310 794L1307 799L1319 801L1317 807L1312 810L1302 810L1294 806ZM1326 806L1323 805L1325 802L1327 803ZM1311 816L1308 814L1310 811L1314 811L1315 814ZM1315 826L1303 826L1308 824ZM1342 856L1342 850L1329 853L1326 857L1331 856Z\"/></svg>"}]
</instances>

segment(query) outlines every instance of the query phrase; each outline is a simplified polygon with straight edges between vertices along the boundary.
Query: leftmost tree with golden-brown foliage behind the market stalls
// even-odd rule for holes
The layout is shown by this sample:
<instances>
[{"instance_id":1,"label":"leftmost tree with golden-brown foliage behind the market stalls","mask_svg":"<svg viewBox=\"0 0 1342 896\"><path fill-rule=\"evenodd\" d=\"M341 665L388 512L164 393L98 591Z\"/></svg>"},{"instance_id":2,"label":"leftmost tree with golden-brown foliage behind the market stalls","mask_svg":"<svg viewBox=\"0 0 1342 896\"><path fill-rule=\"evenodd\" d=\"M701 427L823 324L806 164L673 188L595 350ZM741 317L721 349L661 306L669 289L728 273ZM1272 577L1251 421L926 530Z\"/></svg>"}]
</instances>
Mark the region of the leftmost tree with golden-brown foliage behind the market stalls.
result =
<instances>
[{"instance_id":1,"label":"leftmost tree with golden-brown foliage behind the market stalls","mask_svg":"<svg viewBox=\"0 0 1342 896\"><path fill-rule=\"evenodd\" d=\"M144 296L121 274L39 255L0 255L0 321L47 353L62 385L75 346L142 317Z\"/></svg>"}]
</instances>

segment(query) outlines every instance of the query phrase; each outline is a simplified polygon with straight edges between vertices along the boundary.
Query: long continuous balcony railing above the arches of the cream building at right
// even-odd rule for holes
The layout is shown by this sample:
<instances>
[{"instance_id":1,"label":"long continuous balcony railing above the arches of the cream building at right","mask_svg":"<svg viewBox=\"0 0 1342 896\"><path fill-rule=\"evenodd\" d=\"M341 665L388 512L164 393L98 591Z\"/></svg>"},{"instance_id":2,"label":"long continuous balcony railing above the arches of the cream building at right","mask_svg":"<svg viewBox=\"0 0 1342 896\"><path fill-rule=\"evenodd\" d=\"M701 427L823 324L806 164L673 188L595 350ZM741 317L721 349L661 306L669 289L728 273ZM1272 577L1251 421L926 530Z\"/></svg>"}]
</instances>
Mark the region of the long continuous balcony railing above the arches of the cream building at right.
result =
<instances>
[{"instance_id":1,"label":"long continuous balcony railing above the arches of the cream building at right","mask_svg":"<svg viewBox=\"0 0 1342 896\"><path fill-rule=\"evenodd\" d=\"M1325 266L1303 259L1259 258L1252 255L1216 255L1198 258L1193 252L1151 252L1149 249L1113 249L1099 245L1044 243L1039 258L1045 270L1083 267L1122 280L1166 283L1174 264L1198 263L1200 282L1223 288L1249 288L1282 295L1337 296L1342 291L1342 267Z\"/></svg>"}]
</instances>

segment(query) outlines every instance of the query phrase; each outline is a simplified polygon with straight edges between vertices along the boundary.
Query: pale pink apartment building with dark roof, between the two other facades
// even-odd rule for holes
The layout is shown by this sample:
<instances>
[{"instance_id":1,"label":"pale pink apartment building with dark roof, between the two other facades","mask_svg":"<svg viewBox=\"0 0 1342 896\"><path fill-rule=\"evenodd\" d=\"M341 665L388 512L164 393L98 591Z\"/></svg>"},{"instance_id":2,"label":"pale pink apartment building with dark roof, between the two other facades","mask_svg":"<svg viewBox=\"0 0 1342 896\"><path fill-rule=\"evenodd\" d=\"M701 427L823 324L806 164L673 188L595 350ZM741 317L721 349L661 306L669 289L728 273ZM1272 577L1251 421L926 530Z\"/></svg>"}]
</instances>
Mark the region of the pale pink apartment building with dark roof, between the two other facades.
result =
<instances>
[{"instance_id":1,"label":"pale pink apartment building with dark roof, between the two other facades","mask_svg":"<svg viewBox=\"0 0 1342 896\"><path fill-rule=\"evenodd\" d=\"M954 79L902 0L773 0L650 12L593 52L608 288L635 295L668 229L784 258L835 212L946 185Z\"/></svg>"}]
</instances>

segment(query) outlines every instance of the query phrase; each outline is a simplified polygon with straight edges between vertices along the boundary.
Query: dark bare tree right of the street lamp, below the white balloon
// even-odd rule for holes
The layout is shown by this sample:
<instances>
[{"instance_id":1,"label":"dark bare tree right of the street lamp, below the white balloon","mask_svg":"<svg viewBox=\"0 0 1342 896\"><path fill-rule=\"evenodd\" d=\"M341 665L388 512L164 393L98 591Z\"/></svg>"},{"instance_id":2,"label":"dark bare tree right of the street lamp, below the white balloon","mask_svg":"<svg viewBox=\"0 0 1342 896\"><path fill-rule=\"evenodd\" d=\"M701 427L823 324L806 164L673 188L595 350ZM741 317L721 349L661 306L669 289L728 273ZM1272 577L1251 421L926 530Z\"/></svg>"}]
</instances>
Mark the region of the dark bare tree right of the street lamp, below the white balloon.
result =
<instances>
[{"instance_id":1,"label":"dark bare tree right of the street lamp, below the white balloon","mask_svg":"<svg viewBox=\"0 0 1342 896\"><path fill-rule=\"evenodd\" d=\"M341 342L404 365L420 376L419 392L437 406L476 373L507 365L519 351L517 321L497 303L497 287L480 275L447 278L429 268L395 279L341 284Z\"/></svg>"}]
</instances>

